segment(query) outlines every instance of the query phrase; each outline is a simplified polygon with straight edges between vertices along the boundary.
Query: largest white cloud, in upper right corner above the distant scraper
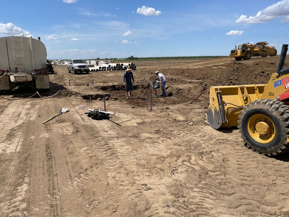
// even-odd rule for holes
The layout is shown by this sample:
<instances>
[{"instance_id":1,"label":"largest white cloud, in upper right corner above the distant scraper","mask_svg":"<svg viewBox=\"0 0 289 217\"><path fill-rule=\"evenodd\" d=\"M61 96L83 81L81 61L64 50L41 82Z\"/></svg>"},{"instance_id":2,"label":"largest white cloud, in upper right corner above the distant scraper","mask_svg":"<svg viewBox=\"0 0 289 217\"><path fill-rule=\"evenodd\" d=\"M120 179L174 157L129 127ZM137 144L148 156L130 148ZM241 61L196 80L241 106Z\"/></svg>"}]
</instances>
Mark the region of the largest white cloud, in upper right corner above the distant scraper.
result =
<instances>
[{"instance_id":1,"label":"largest white cloud, in upper right corner above the distant scraper","mask_svg":"<svg viewBox=\"0 0 289 217\"><path fill-rule=\"evenodd\" d=\"M281 22L289 21L289 0L279 1L259 11L255 16L241 15L235 23L266 23L271 22L280 16L286 16Z\"/></svg>"}]
</instances>

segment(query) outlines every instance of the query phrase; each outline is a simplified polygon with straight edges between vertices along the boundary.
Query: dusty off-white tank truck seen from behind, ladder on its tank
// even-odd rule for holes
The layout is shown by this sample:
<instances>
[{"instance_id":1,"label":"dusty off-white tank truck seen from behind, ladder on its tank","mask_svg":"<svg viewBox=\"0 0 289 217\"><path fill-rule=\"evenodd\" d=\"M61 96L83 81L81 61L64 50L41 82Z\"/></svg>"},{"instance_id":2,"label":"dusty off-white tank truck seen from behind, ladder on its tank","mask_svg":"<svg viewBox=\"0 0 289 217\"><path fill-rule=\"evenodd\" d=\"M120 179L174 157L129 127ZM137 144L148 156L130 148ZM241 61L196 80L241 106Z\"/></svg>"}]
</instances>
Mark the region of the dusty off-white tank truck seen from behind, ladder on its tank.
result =
<instances>
[{"instance_id":1,"label":"dusty off-white tank truck seen from behind, ladder on its tank","mask_svg":"<svg viewBox=\"0 0 289 217\"><path fill-rule=\"evenodd\" d=\"M0 92L37 88L49 90L46 48L40 38L0 38Z\"/></svg>"}]
</instances>

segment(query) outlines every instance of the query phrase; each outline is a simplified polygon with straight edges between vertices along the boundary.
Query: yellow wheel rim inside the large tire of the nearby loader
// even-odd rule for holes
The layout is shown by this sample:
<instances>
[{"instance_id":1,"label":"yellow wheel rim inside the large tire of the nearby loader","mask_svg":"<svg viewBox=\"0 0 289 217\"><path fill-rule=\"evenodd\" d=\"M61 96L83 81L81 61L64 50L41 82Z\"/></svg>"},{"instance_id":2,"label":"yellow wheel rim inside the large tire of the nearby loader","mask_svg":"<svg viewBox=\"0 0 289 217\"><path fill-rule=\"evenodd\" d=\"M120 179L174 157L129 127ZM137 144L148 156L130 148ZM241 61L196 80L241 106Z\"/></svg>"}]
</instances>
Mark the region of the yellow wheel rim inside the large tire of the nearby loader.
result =
<instances>
[{"instance_id":1,"label":"yellow wheel rim inside the large tire of the nearby loader","mask_svg":"<svg viewBox=\"0 0 289 217\"><path fill-rule=\"evenodd\" d=\"M273 121L263 114L252 115L247 122L250 136L259 143L269 143L275 137L275 125Z\"/></svg>"}]
</instances>

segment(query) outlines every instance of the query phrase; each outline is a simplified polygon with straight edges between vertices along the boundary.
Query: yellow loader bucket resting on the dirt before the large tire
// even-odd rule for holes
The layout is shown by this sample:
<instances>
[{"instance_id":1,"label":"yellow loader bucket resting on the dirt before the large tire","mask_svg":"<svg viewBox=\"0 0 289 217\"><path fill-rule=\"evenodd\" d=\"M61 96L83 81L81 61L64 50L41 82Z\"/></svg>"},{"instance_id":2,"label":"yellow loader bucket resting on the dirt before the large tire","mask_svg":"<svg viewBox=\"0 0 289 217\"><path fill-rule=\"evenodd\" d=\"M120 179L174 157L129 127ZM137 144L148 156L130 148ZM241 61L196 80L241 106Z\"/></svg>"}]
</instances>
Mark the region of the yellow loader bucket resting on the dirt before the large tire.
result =
<instances>
[{"instance_id":1,"label":"yellow loader bucket resting on the dirt before the large tire","mask_svg":"<svg viewBox=\"0 0 289 217\"><path fill-rule=\"evenodd\" d=\"M266 84L210 88L210 105L204 121L214 129L238 126L238 115L248 103L261 98Z\"/></svg>"}]
</instances>

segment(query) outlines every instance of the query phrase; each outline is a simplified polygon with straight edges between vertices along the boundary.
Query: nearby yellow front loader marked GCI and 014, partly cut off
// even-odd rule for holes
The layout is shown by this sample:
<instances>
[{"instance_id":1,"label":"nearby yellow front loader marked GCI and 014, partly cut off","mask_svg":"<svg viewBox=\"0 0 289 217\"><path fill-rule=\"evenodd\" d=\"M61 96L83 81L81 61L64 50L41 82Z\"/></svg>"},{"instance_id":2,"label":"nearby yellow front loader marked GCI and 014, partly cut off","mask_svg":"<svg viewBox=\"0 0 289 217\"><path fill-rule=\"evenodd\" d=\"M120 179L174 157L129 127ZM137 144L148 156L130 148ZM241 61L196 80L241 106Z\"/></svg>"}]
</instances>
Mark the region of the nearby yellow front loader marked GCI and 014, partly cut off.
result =
<instances>
[{"instance_id":1,"label":"nearby yellow front loader marked GCI and 014, partly cut off","mask_svg":"<svg viewBox=\"0 0 289 217\"><path fill-rule=\"evenodd\" d=\"M214 129L238 126L244 144L259 154L274 156L289 150L288 45L282 45L277 72L267 84L210 88L204 120Z\"/></svg>"}]
</instances>

